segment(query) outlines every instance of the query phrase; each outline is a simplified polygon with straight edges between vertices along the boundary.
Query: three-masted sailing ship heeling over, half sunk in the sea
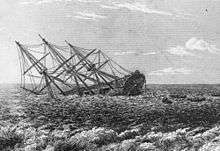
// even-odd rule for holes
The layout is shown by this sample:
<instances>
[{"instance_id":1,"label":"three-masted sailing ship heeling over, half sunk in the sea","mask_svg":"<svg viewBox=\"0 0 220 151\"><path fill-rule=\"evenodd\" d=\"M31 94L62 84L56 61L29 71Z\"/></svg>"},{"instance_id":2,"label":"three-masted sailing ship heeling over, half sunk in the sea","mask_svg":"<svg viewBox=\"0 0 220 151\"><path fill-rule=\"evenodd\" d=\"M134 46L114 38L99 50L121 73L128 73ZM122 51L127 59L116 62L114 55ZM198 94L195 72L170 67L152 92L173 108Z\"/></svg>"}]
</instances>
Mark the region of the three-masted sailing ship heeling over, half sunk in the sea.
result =
<instances>
[{"instance_id":1,"label":"three-masted sailing ship heeling over, half sunk in the sea","mask_svg":"<svg viewBox=\"0 0 220 151\"><path fill-rule=\"evenodd\" d=\"M145 76L131 72L99 49L85 49L66 42L25 45L15 41L21 68L21 88L41 95L139 95Z\"/></svg>"}]
</instances>

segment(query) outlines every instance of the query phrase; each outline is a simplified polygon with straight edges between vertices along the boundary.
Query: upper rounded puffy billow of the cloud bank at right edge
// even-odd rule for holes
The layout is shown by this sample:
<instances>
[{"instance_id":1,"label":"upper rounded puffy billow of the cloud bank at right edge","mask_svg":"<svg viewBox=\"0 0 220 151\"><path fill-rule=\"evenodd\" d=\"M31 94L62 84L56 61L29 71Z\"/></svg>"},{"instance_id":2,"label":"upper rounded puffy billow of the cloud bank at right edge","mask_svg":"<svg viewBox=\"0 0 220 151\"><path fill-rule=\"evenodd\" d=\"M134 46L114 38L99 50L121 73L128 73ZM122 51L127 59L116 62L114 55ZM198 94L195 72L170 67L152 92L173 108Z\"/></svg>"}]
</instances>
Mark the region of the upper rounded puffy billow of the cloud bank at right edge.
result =
<instances>
[{"instance_id":1,"label":"upper rounded puffy billow of the cloud bank at right edge","mask_svg":"<svg viewBox=\"0 0 220 151\"><path fill-rule=\"evenodd\" d=\"M220 51L220 49L216 48L215 45L212 45L205 40L197 39L195 37L189 39L186 42L185 47L188 50L208 51L210 53L217 53L218 51Z\"/></svg>"}]
</instances>

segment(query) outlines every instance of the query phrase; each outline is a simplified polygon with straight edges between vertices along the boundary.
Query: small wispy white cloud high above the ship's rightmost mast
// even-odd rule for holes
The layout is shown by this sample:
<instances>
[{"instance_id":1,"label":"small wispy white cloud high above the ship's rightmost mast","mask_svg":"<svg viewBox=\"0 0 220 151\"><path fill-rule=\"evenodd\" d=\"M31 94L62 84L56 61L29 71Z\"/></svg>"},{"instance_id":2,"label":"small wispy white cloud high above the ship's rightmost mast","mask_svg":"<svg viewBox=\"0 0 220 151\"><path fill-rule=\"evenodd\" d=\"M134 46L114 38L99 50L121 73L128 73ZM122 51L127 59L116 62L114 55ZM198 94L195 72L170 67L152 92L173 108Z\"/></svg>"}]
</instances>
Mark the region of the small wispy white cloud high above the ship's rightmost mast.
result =
<instances>
[{"instance_id":1,"label":"small wispy white cloud high above the ship's rightmost mast","mask_svg":"<svg viewBox=\"0 0 220 151\"><path fill-rule=\"evenodd\" d=\"M77 12L77 15L73 16L77 19L84 19L84 20L97 20L97 19L105 19L106 16L97 15L93 12Z\"/></svg>"}]
</instances>

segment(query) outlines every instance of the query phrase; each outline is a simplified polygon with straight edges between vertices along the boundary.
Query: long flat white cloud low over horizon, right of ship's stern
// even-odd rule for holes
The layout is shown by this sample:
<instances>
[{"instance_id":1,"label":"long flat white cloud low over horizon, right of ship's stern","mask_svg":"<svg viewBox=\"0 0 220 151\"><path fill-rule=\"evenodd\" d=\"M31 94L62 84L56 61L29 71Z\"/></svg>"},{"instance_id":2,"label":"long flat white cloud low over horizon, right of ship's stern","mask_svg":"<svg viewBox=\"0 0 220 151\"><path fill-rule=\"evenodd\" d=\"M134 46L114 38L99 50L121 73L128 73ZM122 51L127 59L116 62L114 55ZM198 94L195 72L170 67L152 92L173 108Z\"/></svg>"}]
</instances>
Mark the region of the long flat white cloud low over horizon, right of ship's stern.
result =
<instances>
[{"instance_id":1,"label":"long flat white cloud low over horizon, right of ship's stern","mask_svg":"<svg viewBox=\"0 0 220 151\"><path fill-rule=\"evenodd\" d=\"M173 68L173 67L169 67L169 68L165 68L162 70L156 70L156 71L152 71L149 75L178 75L178 74L182 74L182 75L188 75L191 74L192 71L189 69L185 69L185 68Z\"/></svg>"}]
</instances>

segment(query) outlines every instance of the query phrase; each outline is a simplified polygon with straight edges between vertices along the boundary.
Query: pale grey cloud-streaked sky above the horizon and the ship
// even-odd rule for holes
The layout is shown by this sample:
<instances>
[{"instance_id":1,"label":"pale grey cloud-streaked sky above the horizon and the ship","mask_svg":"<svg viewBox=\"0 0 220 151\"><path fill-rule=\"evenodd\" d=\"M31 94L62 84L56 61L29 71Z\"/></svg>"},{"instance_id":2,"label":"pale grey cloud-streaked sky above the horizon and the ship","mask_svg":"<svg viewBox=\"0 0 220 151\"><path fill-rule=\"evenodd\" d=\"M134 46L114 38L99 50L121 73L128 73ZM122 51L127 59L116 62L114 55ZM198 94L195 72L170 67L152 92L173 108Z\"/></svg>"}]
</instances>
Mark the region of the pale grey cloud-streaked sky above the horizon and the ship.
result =
<instances>
[{"instance_id":1,"label":"pale grey cloud-streaked sky above the horizon and the ship","mask_svg":"<svg viewBox=\"0 0 220 151\"><path fill-rule=\"evenodd\" d=\"M0 83L19 83L15 40L99 48L147 83L220 83L220 0L0 0Z\"/></svg>"}]
</instances>

